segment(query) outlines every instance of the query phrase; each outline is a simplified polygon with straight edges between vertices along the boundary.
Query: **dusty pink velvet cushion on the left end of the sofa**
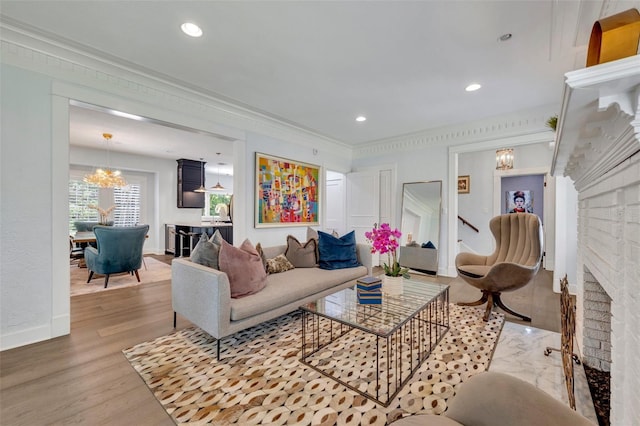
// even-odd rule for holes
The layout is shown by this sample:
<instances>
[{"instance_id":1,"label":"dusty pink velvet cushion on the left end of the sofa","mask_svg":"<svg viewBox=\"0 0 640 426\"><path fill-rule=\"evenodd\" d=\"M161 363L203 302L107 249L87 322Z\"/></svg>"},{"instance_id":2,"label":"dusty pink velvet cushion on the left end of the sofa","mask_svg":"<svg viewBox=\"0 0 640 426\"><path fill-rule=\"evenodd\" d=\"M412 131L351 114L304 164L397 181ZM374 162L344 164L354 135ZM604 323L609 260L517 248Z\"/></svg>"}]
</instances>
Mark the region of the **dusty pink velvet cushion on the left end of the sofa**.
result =
<instances>
[{"instance_id":1,"label":"dusty pink velvet cushion on the left end of the sofa","mask_svg":"<svg viewBox=\"0 0 640 426\"><path fill-rule=\"evenodd\" d=\"M218 261L220 270L229 279L232 298L257 293L267 284L267 273L260 255L248 239L238 248L222 240Z\"/></svg>"}]
</instances>

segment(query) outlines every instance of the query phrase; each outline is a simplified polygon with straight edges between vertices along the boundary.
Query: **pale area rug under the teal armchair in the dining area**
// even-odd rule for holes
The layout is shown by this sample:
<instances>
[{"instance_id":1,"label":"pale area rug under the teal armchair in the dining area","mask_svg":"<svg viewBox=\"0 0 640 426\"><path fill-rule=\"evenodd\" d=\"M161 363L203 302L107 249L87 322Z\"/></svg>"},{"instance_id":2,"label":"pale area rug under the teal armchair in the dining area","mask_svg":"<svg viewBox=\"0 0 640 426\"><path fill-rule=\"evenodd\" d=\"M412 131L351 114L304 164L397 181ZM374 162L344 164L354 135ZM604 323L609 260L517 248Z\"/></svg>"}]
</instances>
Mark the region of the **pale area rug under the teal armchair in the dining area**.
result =
<instances>
[{"instance_id":1,"label":"pale area rug under the teal armchair in the dining area","mask_svg":"<svg viewBox=\"0 0 640 426\"><path fill-rule=\"evenodd\" d=\"M130 275L126 272L113 274L109 277L109 285L106 289L104 288L104 275L94 274L91 282L87 283L87 278L89 277L87 268L71 265L71 296L104 290L115 290L124 287L134 287L141 284L171 279L170 265L148 256L144 257L144 262L145 264L138 270L140 282L138 282L135 275Z\"/></svg>"}]
</instances>

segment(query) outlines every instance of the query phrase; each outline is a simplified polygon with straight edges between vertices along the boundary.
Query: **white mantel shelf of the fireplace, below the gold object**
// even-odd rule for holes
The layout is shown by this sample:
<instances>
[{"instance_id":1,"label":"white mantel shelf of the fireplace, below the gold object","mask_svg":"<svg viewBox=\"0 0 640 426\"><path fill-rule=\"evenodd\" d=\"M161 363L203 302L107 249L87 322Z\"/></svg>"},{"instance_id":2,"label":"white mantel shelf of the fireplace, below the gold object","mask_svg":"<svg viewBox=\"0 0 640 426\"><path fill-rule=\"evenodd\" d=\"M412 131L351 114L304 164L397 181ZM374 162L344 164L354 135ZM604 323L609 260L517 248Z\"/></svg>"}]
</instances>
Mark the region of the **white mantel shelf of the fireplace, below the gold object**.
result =
<instances>
[{"instance_id":1,"label":"white mantel shelf of the fireplace, below the gold object","mask_svg":"<svg viewBox=\"0 0 640 426\"><path fill-rule=\"evenodd\" d=\"M581 191L640 150L640 55L565 75L551 173Z\"/></svg>"}]
</instances>

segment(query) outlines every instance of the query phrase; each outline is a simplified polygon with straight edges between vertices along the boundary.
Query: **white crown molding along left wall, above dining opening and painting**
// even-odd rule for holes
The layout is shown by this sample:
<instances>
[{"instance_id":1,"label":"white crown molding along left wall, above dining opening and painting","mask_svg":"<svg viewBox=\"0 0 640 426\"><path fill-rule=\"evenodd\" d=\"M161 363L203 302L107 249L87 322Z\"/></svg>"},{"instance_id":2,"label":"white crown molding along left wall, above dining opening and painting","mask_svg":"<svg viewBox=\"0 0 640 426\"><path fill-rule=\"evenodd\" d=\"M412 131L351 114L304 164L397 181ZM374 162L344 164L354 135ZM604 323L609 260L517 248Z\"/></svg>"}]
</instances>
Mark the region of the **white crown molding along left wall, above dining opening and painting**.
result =
<instances>
[{"instance_id":1,"label":"white crown molding along left wall, above dining opening and painting","mask_svg":"<svg viewBox=\"0 0 640 426\"><path fill-rule=\"evenodd\" d=\"M81 50L21 28L6 17L0 22L3 63L52 78L103 90L107 93L191 114L221 126L254 132L287 142L317 148L319 144L341 155L351 146L266 113L250 110L202 89L149 70L137 69L97 51ZM231 133L237 134L236 131Z\"/></svg>"}]
</instances>

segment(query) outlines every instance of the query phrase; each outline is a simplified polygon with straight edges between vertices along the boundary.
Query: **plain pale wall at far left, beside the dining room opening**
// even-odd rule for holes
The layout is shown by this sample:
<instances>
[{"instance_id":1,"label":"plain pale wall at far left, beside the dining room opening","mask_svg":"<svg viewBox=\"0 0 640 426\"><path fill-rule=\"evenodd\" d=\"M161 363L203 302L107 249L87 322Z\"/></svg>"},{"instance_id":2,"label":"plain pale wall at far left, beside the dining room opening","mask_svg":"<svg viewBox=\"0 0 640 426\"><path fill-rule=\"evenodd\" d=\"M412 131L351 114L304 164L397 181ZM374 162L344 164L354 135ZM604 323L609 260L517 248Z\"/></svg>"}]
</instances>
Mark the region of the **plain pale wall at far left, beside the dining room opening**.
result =
<instances>
[{"instance_id":1,"label":"plain pale wall at far left, beside the dining room opening","mask_svg":"<svg viewBox=\"0 0 640 426\"><path fill-rule=\"evenodd\" d=\"M6 347L52 335L53 147L50 80L14 67L0 71L0 344ZM14 339L15 333L21 336Z\"/></svg>"}]
</instances>

